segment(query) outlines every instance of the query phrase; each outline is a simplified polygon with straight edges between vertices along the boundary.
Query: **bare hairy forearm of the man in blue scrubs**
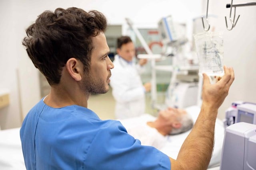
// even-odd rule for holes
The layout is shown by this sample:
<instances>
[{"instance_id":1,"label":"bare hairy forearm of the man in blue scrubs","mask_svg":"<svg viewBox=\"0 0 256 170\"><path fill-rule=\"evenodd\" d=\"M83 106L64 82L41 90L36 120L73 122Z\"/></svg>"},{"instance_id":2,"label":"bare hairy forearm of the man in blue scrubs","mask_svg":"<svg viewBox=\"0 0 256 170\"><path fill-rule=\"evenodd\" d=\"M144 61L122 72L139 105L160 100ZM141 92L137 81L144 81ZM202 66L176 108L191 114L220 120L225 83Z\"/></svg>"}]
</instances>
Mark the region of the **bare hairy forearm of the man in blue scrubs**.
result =
<instances>
[{"instance_id":1,"label":"bare hairy forearm of the man in blue scrubs","mask_svg":"<svg viewBox=\"0 0 256 170\"><path fill-rule=\"evenodd\" d=\"M177 161L186 170L206 170L212 156L217 109L202 104L198 119L184 141Z\"/></svg>"}]
</instances>

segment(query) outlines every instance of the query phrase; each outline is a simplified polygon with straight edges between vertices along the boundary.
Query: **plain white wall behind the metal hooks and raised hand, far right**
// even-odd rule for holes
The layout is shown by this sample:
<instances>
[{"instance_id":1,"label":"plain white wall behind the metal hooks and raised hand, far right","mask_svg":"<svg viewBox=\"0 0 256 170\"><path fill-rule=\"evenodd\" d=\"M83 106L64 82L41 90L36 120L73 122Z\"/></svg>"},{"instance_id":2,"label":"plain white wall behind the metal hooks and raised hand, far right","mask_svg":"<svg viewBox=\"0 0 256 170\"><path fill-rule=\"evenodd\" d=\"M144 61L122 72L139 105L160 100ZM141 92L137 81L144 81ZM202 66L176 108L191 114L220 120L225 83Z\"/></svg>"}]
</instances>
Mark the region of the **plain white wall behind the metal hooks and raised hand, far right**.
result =
<instances>
[{"instance_id":1,"label":"plain white wall behind the metal hooks and raised hand, far right","mask_svg":"<svg viewBox=\"0 0 256 170\"><path fill-rule=\"evenodd\" d=\"M234 4L254 2L239 0ZM206 0L202 0L206 14ZM226 29L225 16L229 18L231 0L209 1L209 13L218 15L216 22L210 24L224 31L224 64L232 66L235 80L230 92L219 109L218 117L223 119L225 110L233 101L242 100L256 103L256 6L237 7L236 16L240 18L231 31ZM232 10L234 11L234 9ZM230 24L228 20L228 24ZM230 25L229 25L230 27Z\"/></svg>"}]
</instances>

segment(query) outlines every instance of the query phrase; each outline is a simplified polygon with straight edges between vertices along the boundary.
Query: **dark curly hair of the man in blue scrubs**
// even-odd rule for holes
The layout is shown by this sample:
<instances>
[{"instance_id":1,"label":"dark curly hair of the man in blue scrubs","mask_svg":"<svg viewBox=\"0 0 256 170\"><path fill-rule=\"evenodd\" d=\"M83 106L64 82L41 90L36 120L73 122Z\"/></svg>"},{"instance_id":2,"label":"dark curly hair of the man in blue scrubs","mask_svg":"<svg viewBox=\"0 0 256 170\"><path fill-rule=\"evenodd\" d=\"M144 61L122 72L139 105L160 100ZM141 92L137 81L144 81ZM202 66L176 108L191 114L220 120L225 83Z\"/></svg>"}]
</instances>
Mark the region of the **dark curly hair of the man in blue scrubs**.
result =
<instances>
[{"instance_id":1,"label":"dark curly hair of the man in blue scrubs","mask_svg":"<svg viewBox=\"0 0 256 170\"><path fill-rule=\"evenodd\" d=\"M96 10L57 8L38 16L26 29L22 45L52 86L60 82L62 68L70 58L80 60L84 71L89 71L94 48L92 37L104 32L106 26L106 17Z\"/></svg>"}]
</instances>

